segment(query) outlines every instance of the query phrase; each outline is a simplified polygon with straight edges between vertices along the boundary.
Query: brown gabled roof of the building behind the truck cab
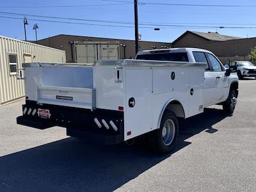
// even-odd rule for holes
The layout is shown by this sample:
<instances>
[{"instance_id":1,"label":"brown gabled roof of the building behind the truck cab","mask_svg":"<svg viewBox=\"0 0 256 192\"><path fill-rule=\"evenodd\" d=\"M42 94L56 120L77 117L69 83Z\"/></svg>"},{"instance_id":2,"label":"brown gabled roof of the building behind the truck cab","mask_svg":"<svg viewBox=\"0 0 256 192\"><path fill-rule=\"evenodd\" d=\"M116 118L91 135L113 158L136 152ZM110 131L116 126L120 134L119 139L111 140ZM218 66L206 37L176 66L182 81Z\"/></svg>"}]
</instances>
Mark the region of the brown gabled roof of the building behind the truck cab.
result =
<instances>
[{"instance_id":1,"label":"brown gabled roof of the building behind the truck cab","mask_svg":"<svg viewBox=\"0 0 256 192\"><path fill-rule=\"evenodd\" d=\"M179 38L177 38L173 42L173 44L175 44L177 41L179 41L181 38L183 38L188 33L192 33L194 35L200 36L201 38L204 38L205 40L216 41L216 42L241 39L241 37L237 37L237 36L220 35L220 33L218 33L218 32L203 33L203 32L198 32L198 31L186 31L185 33L180 35Z\"/></svg>"}]
</instances>

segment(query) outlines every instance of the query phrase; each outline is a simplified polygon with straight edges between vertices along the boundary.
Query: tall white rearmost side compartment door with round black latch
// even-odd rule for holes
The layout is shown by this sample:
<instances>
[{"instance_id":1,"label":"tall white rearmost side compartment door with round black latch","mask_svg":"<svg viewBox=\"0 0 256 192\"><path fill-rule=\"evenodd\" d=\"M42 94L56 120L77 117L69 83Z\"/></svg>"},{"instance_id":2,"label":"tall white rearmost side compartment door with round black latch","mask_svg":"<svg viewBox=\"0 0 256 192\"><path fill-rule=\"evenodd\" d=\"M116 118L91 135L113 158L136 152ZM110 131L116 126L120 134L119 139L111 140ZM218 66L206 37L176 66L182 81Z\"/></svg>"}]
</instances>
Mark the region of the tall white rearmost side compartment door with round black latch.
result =
<instances>
[{"instance_id":1,"label":"tall white rearmost side compartment door with round black latch","mask_svg":"<svg viewBox=\"0 0 256 192\"><path fill-rule=\"evenodd\" d=\"M152 70L127 69L125 86L124 138L129 140L152 127Z\"/></svg>"}]
</instances>

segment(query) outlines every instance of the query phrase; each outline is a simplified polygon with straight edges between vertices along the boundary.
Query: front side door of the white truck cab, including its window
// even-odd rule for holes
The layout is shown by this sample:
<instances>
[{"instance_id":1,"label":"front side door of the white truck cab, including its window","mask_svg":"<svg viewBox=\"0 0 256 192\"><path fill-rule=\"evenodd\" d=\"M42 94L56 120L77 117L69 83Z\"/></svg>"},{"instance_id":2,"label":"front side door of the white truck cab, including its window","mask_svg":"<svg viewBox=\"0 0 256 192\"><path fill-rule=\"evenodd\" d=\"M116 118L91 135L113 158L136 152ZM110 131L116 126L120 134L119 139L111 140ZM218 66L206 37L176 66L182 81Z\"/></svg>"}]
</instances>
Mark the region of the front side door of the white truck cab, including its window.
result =
<instances>
[{"instance_id":1,"label":"front side door of the white truck cab, including its window","mask_svg":"<svg viewBox=\"0 0 256 192\"><path fill-rule=\"evenodd\" d=\"M211 53L206 52L207 60L211 67L211 76L215 77L215 89L214 102L222 101L225 99L226 90L228 88L227 77L225 76L225 70L221 67L220 61Z\"/></svg>"}]
</instances>

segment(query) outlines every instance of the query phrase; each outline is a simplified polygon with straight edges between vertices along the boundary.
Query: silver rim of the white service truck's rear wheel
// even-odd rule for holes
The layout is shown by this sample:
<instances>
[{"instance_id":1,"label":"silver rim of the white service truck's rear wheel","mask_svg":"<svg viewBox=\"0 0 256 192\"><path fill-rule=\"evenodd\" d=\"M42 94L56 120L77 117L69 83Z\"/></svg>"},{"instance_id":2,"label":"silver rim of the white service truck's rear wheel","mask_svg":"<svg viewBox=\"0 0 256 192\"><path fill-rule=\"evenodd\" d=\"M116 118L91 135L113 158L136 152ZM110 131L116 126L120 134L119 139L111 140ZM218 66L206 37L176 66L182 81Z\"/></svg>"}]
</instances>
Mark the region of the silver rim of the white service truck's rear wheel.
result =
<instances>
[{"instance_id":1,"label":"silver rim of the white service truck's rear wheel","mask_svg":"<svg viewBox=\"0 0 256 192\"><path fill-rule=\"evenodd\" d=\"M164 122L163 129L162 129L162 138L164 145L168 146L171 145L172 141L174 140L175 136L175 124L173 120L168 119Z\"/></svg>"}]
</instances>

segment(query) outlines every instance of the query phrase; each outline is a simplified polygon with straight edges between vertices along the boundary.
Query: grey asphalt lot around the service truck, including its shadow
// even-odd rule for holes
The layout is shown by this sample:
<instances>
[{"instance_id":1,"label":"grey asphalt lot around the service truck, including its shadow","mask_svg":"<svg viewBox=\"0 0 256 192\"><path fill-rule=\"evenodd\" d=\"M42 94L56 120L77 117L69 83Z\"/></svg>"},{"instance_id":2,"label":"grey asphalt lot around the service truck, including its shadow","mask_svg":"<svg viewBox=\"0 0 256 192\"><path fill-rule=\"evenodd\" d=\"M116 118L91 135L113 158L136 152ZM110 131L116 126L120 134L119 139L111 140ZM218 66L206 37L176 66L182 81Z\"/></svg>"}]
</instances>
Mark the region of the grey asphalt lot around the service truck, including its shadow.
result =
<instances>
[{"instance_id":1,"label":"grey asphalt lot around the service truck, including its shadow","mask_svg":"<svg viewBox=\"0 0 256 192\"><path fill-rule=\"evenodd\" d=\"M256 79L239 83L234 115L214 106L185 120L167 156L16 125L24 100L3 106L0 191L256 191Z\"/></svg>"}]
</instances>

